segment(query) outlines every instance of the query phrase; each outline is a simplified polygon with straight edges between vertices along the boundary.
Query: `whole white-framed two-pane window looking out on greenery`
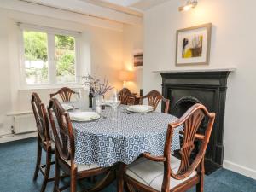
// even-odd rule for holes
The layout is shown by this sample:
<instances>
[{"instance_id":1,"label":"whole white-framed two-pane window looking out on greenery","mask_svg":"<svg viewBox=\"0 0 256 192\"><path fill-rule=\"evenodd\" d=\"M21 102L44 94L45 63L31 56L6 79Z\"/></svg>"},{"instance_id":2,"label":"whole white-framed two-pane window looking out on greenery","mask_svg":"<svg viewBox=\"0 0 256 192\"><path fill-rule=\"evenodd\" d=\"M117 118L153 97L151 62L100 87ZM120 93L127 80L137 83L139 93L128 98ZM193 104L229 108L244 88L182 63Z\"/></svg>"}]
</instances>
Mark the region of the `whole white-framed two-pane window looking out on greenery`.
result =
<instances>
[{"instance_id":1,"label":"whole white-framed two-pane window looking out on greenery","mask_svg":"<svg viewBox=\"0 0 256 192\"><path fill-rule=\"evenodd\" d=\"M77 83L79 32L23 24L20 28L23 85Z\"/></svg>"}]
</instances>

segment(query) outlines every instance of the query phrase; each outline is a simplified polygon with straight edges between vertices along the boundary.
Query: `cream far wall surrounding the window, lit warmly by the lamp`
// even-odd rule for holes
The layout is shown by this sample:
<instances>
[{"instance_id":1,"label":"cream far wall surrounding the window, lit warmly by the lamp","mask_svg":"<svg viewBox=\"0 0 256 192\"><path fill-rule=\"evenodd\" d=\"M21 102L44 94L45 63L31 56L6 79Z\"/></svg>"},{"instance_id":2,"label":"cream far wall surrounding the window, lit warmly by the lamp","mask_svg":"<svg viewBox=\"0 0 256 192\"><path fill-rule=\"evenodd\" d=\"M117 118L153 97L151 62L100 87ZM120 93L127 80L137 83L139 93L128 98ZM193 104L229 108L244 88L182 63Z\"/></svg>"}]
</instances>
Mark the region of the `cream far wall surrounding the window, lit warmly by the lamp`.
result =
<instances>
[{"instance_id":1,"label":"cream far wall surrounding the window, lit warmly by the lamp","mask_svg":"<svg viewBox=\"0 0 256 192\"><path fill-rule=\"evenodd\" d=\"M49 15L54 13L54 9L49 9ZM58 15L58 17L60 16ZM17 22L82 32L81 74L85 74L87 69L90 70L91 64L92 73L106 77L109 84L121 88L122 82L119 81L117 72L123 67L122 31L0 9L0 136L11 133L10 126L13 125L13 122L10 117L6 116L7 113L31 110L30 96L32 91L37 91L43 101L48 103L49 93L56 90L20 90L20 30ZM118 25L122 26L122 24Z\"/></svg>"}]
</instances>

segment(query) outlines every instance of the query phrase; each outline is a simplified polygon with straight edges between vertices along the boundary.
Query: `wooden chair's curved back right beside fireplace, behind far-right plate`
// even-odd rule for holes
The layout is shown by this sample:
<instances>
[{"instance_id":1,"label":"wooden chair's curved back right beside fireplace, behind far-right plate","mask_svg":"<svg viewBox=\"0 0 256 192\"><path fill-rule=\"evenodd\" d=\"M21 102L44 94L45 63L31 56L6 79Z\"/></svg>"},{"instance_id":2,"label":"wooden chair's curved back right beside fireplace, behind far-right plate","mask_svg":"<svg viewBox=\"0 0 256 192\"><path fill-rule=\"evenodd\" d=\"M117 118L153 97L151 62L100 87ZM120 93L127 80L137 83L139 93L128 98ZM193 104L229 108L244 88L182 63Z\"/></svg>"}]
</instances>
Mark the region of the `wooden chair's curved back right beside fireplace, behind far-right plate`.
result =
<instances>
[{"instance_id":1,"label":"wooden chair's curved back right beside fireplace, behind far-right plate","mask_svg":"<svg viewBox=\"0 0 256 192\"><path fill-rule=\"evenodd\" d=\"M169 112L170 100L166 99L157 90L151 90L146 96L140 97L140 104L143 104L143 99L148 99L148 105L152 106L154 110L157 108L160 101L166 102L165 113Z\"/></svg>"}]
</instances>

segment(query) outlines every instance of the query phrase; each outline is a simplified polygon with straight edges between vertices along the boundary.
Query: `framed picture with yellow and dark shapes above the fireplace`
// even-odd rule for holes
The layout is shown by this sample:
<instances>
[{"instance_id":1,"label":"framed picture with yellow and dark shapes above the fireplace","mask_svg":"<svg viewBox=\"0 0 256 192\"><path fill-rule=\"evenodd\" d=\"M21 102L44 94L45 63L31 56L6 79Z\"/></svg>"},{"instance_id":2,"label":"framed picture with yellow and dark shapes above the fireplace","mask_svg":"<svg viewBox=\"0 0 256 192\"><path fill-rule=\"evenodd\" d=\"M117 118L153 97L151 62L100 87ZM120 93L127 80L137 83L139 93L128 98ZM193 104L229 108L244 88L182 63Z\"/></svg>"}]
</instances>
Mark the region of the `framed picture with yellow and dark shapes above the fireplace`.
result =
<instances>
[{"instance_id":1,"label":"framed picture with yellow and dark shapes above the fireplace","mask_svg":"<svg viewBox=\"0 0 256 192\"><path fill-rule=\"evenodd\" d=\"M212 24L177 30L176 65L209 64Z\"/></svg>"}]
</instances>

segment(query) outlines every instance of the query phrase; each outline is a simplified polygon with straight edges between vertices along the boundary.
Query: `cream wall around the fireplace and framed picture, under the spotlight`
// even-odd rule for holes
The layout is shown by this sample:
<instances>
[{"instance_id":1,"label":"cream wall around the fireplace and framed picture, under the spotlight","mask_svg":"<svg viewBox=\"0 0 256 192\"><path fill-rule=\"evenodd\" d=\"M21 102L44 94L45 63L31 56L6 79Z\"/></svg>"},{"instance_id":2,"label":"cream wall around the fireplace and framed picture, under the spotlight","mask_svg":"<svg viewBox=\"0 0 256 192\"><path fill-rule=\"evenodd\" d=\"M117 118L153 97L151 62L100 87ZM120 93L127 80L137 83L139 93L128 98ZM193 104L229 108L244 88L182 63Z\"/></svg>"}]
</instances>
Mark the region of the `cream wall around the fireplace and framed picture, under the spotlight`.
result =
<instances>
[{"instance_id":1,"label":"cream wall around the fireplace and framed picture, under the spotlight","mask_svg":"<svg viewBox=\"0 0 256 192\"><path fill-rule=\"evenodd\" d=\"M160 90L154 70L237 67L230 74L224 125L224 166L256 178L256 2L201 0L189 12L177 11L172 0L146 11L144 16L143 89ZM209 66L175 67L177 29L212 22Z\"/></svg>"}]
</instances>

